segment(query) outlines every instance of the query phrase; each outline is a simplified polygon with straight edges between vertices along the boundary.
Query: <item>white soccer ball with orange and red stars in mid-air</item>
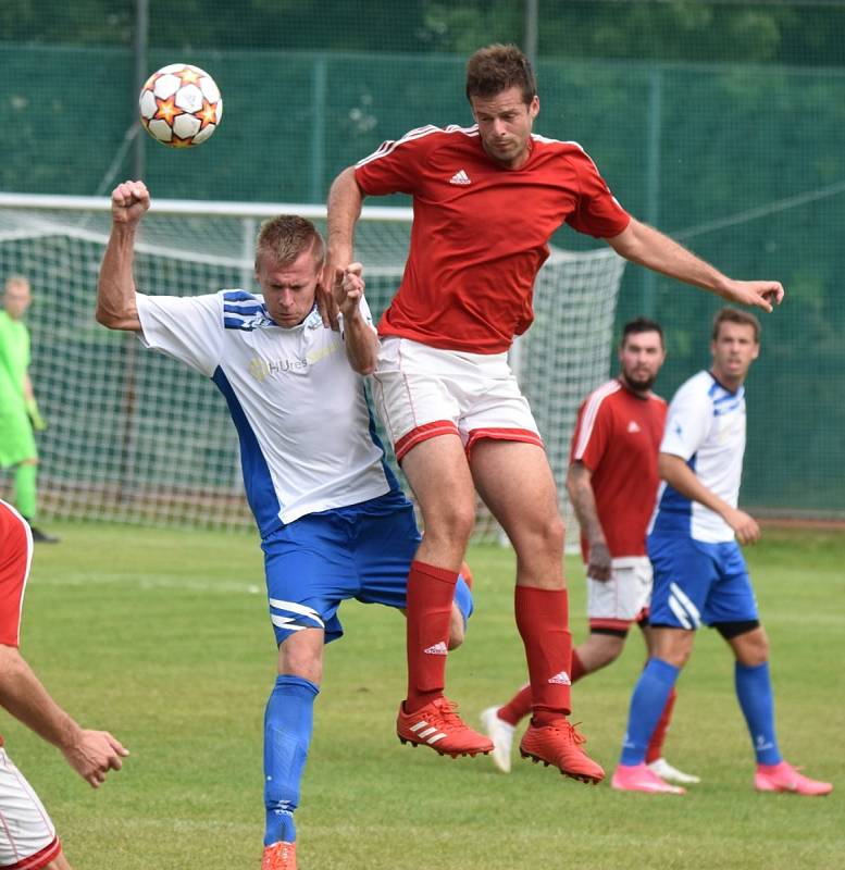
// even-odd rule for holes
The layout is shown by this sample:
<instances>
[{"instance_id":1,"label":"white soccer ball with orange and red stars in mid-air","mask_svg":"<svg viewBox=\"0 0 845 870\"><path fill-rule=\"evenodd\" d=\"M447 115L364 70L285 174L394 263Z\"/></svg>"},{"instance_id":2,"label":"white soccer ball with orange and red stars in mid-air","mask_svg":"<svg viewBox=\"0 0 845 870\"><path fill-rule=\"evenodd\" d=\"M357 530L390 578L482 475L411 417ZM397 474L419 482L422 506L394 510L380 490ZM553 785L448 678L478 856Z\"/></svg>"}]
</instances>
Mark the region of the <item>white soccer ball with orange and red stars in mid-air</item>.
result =
<instances>
[{"instance_id":1,"label":"white soccer ball with orange and red stars in mid-air","mask_svg":"<svg viewBox=\"0 0 845 870\"><path fill-rule=\"evenodd\" d=\"M201 145L223 117L214 79L188 63L172 63L153 73L141 88L138 105L147 133L171 148Z\"/></svg>"}]
</instances>

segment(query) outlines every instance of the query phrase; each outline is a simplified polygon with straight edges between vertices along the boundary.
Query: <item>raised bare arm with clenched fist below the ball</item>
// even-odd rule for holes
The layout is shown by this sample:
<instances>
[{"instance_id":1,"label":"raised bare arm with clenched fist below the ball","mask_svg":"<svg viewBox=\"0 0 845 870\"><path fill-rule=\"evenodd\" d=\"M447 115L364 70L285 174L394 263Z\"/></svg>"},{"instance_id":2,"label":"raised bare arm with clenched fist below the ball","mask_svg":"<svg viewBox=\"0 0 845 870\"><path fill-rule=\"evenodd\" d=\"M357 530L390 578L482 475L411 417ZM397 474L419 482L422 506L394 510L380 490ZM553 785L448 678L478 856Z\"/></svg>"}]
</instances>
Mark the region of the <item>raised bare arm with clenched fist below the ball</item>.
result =
<instances>
[{"instance_id":1,"label":"raised bare arm with clenched fist below the ball","mask_svg":"<svg viewBox=\"0 0 845 870\"><path fill-rule=\"evenodd\" d=\"M124 182L112 191L112 231L97 284L97 322L110 330L140 331L135 306L135 235L150 195L144 182Z\"/></svg>"}]
</instances>

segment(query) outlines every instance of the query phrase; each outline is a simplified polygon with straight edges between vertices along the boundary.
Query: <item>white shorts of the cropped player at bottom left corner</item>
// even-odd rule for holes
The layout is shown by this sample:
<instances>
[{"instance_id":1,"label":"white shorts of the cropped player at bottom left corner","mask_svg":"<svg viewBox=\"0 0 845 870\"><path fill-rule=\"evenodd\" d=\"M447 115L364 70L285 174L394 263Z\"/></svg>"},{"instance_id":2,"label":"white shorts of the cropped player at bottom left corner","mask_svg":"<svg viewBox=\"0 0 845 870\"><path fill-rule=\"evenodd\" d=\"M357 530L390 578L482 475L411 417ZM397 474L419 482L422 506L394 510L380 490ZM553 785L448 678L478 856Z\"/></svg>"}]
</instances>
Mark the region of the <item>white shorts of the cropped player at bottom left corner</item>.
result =
<instances>
[{"instance_id":1,"label":"white shorts of the cropped player at bottom left corner","mask_svg":"<svg viewBox=\"0 0 845 870\"><path fill-rule=\"evenodd\" d=\"M0 748L0 867L38 870L61 852L47 810Z\"/></svg>"}]
</instances>

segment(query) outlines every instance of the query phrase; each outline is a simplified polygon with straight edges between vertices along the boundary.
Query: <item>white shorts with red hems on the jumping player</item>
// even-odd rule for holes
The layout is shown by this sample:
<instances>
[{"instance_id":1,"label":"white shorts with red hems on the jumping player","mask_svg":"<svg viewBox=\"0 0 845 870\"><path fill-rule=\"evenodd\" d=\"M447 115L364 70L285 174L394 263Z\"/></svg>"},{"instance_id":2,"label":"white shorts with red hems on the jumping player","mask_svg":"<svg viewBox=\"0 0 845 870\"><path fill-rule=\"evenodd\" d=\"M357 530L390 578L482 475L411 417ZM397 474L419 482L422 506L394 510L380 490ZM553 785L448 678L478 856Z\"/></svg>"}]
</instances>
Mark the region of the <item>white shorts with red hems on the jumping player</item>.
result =
<instances>
[{"instance_id":1,"label":"white shorts with red hems on the jumping player","mask_svg":"<svg viewBox=\"0 0 845 870\"><path fill-rule=\"evenodd\" d=\"M412 447L456 434L469 455L481 438L543 440L507 353L465 353L408 338L382 339L373 400L401 460Z\"/></svg>"}]
</instances>

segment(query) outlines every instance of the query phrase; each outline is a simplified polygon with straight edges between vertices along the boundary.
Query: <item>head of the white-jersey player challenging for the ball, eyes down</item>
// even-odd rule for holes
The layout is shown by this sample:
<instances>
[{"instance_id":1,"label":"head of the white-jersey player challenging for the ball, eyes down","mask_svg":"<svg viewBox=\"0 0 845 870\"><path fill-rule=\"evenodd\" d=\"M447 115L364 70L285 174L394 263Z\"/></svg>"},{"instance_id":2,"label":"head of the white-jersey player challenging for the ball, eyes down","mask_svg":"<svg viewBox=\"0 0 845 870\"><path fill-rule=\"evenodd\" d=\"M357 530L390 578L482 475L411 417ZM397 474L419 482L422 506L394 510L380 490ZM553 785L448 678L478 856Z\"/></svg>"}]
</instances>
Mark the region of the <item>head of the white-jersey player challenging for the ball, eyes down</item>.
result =
<instances>
[{"instance_id":1,"label":"head of the white-jersey player challenging for the ball, eyes down","mask_svg":"<svg viewBox=\"0 0 845 870\"><path fill-rule=\"evenodd\" d=\"M296 326L314 307L325 246L311 221L279 214L264 221L256 245L256 278L270 316Z\"/></svg>"}]
</instances>

